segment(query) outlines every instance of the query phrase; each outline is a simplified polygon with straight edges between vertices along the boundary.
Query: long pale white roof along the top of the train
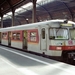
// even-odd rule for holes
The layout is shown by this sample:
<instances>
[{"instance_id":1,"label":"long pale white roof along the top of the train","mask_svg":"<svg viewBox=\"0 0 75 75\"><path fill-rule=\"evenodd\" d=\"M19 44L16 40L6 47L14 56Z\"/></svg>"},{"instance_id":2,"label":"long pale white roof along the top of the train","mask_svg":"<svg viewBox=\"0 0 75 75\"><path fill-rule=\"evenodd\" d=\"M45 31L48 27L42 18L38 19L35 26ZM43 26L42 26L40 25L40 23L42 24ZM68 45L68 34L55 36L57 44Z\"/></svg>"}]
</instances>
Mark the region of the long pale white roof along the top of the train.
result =
<instances>
[{"instance_id":1,"label":"long pale white roof along the top of the train","mask_svg":"<svg viewBox=\"0 0 75 75\"><path fill-rule=\"evenodd\" d=\"M16 31L16 30L25 30L31 27L38 27L38 26L43 26L43 25L49 25L51 23L64 23L66 20L49 20L49 21L43 21L43 22L36 22L36 23L31 23L31 24L23 24L23 25L18 25L18 26L12 26L12 27L7 27L7 28L1 28L0 32L6 32L6 31ZM74 22L68 21L68 23L75 25ZM75 26L74 26L75 27Z\"/></svg>"}]
</instances>

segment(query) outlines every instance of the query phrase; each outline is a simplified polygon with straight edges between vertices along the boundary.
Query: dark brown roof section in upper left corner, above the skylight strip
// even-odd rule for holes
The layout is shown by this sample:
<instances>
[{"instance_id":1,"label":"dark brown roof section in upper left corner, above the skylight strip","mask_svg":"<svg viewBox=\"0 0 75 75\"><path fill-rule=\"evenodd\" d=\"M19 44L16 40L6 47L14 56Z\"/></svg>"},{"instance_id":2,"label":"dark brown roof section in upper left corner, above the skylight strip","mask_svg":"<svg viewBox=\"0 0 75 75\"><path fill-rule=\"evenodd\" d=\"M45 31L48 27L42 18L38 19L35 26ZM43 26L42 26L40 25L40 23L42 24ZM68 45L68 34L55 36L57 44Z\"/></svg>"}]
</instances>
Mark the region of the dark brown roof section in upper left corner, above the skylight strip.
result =
<instances>
[{"instance_id":1,"label":"dark brown roof section in upper left corner, above the skylight strip","mask_svg":"<svg viewBox=\"0 0 75 75\"><path fill-rule=\"evenodd\" d=\"M0 0L0 14L6 14L12 9L17 9L31 0Z\"/></svg>"}]
</instances>

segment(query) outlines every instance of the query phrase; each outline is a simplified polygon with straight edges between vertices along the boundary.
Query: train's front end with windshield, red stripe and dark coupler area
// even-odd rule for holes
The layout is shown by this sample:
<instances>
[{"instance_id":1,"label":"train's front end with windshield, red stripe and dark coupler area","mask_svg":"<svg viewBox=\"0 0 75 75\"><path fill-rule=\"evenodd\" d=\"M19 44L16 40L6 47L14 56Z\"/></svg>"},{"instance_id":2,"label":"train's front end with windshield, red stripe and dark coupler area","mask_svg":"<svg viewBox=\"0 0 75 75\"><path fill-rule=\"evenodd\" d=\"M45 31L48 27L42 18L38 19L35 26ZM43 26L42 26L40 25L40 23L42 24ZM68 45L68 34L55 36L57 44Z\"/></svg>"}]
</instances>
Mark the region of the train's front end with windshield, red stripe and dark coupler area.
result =
<instances>
[{"instance_id":1,"label":"train's front end with windshield, red stripe and dark coupler area","mask_svg":"<svg viewBox=\"0 0 75 75\"><path fill-rule=\"evenodd\" d=\"M72 23L60 23L49 29L49 50L59 52L63 59L75 59L75 29Z\"/></svg>"}]
</instances>

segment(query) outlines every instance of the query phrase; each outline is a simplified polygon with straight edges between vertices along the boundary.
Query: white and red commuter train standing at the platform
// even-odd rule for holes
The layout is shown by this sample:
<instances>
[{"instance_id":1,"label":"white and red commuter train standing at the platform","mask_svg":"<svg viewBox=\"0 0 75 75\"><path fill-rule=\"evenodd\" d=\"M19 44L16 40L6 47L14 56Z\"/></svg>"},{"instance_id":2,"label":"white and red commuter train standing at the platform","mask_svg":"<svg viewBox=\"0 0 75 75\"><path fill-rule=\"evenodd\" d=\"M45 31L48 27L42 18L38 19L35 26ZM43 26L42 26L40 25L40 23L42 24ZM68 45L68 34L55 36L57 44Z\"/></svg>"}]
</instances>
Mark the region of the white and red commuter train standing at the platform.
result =
<instances>
[{"instance_id":1,"label":"white and red commuter train standing at the platform","mask_svg":"<svg viewBox=\"0 0 75 75\"><path fill-rule=\"evenodd\" d=\"M0 44L47 55L75 59L75 22L67 19L0 28Z\"/></svg>"}]
</instances>

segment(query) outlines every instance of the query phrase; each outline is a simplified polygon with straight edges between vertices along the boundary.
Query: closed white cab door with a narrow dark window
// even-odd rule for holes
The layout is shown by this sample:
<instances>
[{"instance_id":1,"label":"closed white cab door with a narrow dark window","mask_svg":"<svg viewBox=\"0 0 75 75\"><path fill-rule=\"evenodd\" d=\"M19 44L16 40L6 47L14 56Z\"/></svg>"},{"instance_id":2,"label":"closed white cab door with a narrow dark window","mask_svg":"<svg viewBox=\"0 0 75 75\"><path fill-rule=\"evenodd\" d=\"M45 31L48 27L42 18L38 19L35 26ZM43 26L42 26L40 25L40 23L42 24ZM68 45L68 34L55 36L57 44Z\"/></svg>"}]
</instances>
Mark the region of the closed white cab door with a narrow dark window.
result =
<instances>
[{"instance_id":1,"label":"closed white cab door with a narrow dark window","mask_svg":"<svg viewBox=\"0 0 75 75\"><path fill-rule=\"evenodd\" d=\"M41 50L47 50L47 34L46 28L41 28Z\"/></svg>"}]
</instances>

